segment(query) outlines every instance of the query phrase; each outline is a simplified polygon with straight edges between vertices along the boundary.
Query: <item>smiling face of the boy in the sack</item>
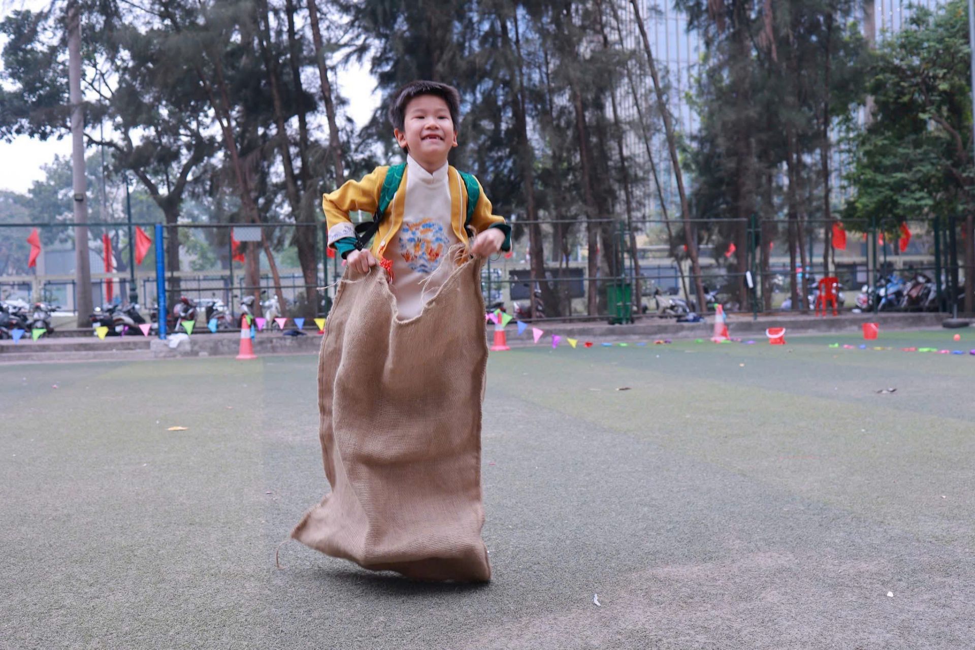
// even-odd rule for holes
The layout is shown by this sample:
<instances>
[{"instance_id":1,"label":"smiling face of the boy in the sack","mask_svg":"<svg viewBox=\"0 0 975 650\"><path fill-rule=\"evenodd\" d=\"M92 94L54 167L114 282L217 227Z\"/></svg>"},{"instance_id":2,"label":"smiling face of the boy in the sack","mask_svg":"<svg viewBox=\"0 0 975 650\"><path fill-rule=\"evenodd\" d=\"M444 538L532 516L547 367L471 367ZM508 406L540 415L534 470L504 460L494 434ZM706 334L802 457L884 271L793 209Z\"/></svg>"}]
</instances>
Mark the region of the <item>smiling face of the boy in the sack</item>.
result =
<instances>
[{"instance_id":1,"label":"smiling face of the boy in the sack","mask_svg":"<svg viewBox=\"0 0 975 650\"><path fill-rule=\"evenodd\" d=\"M450 109L443 98L420 95L409 100L403 131L394 129L396 141L409 149L409 155L428 172L443 167L450 149L457 146Z\"/></svg>"}]
</instances>

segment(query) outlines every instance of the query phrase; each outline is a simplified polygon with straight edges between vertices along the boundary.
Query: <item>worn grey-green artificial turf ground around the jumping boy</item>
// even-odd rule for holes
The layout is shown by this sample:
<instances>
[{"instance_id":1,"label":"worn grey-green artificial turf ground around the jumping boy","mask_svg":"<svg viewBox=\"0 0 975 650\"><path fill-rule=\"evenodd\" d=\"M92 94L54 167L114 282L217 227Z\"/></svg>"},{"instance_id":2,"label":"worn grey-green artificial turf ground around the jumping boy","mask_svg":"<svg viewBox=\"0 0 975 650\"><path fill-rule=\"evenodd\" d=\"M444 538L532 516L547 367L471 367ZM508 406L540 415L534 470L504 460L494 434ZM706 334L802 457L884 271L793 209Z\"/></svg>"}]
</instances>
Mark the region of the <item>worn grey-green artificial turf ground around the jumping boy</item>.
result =
<instances>
[{"instance_id":1,"label":"worn grey-green artificial turf ground around the jumping boy","mask_svg":"<svg viewBox=\"0 0 975 650\"><path fill-rule=\"evenodd\" d=\"M275 567L314 357L0 365L0 647L973 648L954 333L492 353L487 586Z\"/></svg>"}]
</instances>

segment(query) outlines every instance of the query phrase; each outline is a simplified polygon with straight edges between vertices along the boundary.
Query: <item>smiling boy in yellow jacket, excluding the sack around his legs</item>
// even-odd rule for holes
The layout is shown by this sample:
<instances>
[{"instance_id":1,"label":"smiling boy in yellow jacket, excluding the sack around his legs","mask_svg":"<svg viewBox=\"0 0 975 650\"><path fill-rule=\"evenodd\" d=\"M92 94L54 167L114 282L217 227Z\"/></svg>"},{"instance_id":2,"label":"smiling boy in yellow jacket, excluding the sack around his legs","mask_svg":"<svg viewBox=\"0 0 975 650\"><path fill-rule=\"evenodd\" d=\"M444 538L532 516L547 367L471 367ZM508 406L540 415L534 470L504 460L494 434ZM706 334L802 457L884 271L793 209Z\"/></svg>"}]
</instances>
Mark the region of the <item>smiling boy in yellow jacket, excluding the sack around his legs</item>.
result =
<instances>
[{"instance_id":1,"label":"smiling boy in yellow jacket, excluding the sack around his legs","mask_svg":"<svg viewBox=\"0 0 975 650\"><path fill-rule=\"evenodd\" d=\"M381 224L370 249L357 248L349 210L375 211L391 168L376 168L362 180L350 180L322 199L329 246L338 250L349 266L366 273L376 265L377 258L392 262L391 288L400 320L418 316L426 299L443 284L448 274L430 276L450 246L468 242L468 226L478 233L472 254L487 257L511 249L511 228L503 217L491 214L490 201L476 179L479 196L467 221L465 181L448 166L450 149L457 146L459 111L460 96L446 84L414 81L393 96L389 120L407 154L407 166L387 213L379 215Z\"/></svg>"}]
</instances>

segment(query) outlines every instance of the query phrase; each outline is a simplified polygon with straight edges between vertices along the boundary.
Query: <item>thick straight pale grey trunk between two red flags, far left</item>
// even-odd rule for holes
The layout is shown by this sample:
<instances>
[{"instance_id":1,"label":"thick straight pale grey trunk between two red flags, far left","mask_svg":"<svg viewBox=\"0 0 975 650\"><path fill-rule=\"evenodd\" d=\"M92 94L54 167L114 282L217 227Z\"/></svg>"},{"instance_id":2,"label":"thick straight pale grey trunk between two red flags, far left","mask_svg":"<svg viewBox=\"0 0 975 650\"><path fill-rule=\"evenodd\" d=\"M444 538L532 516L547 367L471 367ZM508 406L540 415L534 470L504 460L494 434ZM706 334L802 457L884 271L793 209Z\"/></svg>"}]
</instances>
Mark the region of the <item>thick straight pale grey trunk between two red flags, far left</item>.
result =
<instances>
[{"instance_id":1,"label":"thick straight pale grey trunk between two red flags, far left","mask_svg":"<svg viewBox=\"0 0 975 650\"><path fill-rule=\"evenodd\" d=\"M88 199L85 186L85 114L81 95L81 18L77 0L67 7L68 100L71 102L71 191L74 201L74 308L78 327L89 327L92 269L88 257Z\"/></svg>"}]
</instances>

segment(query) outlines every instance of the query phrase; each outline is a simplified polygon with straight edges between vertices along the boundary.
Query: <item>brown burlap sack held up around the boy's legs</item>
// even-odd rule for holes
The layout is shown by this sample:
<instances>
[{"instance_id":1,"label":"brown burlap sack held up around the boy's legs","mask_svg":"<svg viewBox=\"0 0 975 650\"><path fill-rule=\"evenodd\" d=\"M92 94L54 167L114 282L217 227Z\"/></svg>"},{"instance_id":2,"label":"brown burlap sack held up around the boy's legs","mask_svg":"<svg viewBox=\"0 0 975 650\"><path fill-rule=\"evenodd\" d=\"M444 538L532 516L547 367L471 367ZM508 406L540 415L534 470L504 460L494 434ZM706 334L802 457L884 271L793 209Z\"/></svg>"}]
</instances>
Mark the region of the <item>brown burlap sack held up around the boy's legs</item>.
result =
<instances>
[{"instance_id":1,"label":"brown burlap sack held up around the boy's legs","mask_svg":"<svg viewBox=\"0 0 975 650\"><path fill-rule=\"evenodd\" d=\"M371 570L487 581L481 263L455 269L420 316L396 320L386 274L346 271L319 356L331 493L292 537Z\"/></svg>"}]
</instances>

